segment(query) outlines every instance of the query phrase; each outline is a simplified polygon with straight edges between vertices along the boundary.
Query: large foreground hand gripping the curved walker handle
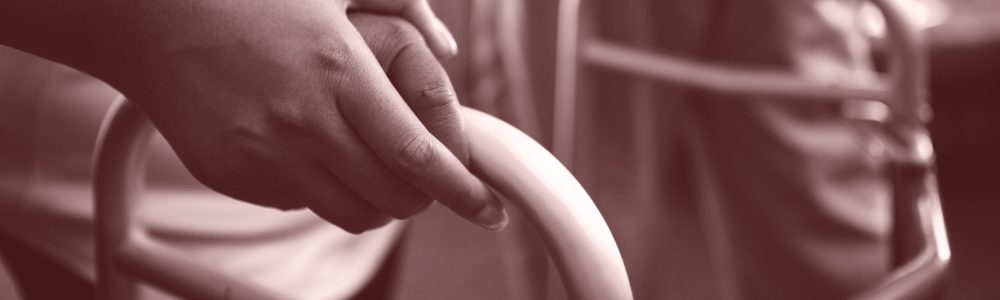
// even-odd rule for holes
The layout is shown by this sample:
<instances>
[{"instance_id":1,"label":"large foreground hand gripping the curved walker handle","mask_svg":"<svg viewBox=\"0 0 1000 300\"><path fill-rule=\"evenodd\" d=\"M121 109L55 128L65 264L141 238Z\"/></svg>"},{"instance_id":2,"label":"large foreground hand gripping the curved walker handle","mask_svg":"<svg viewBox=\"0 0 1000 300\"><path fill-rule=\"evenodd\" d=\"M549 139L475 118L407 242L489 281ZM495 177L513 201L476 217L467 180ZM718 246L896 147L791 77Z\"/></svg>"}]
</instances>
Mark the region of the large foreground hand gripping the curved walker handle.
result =
<instances>
[{"instance_id":1,"label":"large foreground hand gripping the curved walker handle","mask_svg":"<svg viewBox=\"0 0 1000 300\"><path fill-rule=\"evenodd\" d=\"M505 226L500 202L463 165L447 76L405 22L357 18L376 57L337 2L149 5L133 25L151 29L147 38L130 39L131 56L101 73L207 186L308 207L350 232L412 216L431 198Z\"/></svg>"}]
</instances>

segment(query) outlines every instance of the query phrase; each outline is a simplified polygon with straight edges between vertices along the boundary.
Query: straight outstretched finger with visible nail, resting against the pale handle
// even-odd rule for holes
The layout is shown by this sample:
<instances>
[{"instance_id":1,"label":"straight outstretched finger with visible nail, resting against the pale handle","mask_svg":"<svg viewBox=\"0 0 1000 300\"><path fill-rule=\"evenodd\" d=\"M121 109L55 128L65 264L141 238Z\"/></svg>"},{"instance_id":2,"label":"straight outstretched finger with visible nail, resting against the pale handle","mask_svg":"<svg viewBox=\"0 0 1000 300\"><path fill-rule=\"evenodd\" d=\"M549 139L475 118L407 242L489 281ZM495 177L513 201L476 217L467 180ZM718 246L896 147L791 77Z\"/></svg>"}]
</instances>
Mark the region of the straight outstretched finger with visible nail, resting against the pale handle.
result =
<instances>
[{"instance_id":1,"label":"straight outstretched finger with visible nail, resting against the pale handle","mask_svg":"<svg viewBox=\"0 0 1000 300\"><path fill-rule=\"evenodd\" d=\"M341 89L337 101L344 118L399 177L437 199L460 216L491 229L502 229L507 215L486 185L472 175L444 144L420 123L378 70L375 59L360 61L356 84Z\"/></svg>"}]
</instances>

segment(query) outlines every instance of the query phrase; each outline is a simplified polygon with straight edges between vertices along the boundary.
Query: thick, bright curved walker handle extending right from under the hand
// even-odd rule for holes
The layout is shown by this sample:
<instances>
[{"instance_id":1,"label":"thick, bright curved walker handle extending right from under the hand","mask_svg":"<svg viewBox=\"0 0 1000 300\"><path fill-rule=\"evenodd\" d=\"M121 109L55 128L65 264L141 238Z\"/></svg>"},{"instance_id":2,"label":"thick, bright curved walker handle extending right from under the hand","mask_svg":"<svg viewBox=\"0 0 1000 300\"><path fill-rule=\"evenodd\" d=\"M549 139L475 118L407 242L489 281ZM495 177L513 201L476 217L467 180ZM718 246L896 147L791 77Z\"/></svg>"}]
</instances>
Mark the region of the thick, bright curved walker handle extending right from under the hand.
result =
<instances>
[{"instance_id":1,"label":"thick, bright curved walker handle extending right from under the hand","mask_svg":"<svg viewBox=\"0 0 1000 300\"><path fill-rule=\"evenodd\" d=\"M625 263L587 191L555 156L485 113L465 109L472 172L542 238L570 299L632 299Z\"/></svg>"}]
</instances>

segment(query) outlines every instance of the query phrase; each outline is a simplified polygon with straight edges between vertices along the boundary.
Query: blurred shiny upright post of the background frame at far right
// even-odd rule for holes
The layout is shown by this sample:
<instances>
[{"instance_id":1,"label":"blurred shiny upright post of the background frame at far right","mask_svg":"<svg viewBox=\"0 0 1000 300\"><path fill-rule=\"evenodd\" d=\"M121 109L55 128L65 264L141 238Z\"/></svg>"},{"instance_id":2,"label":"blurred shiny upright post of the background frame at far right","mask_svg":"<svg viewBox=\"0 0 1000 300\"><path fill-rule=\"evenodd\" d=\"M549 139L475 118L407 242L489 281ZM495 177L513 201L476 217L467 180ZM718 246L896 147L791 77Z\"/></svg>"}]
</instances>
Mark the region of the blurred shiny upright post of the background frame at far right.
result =
<instances>
[{"instance_id":1,"label":"blurred shiny upright post of the background frame at far right","mask_svg":"<svg viewBox=\"0 0 1000 300\"><path fill-rule=\"evenodd\" d=\"M892 98L888 104L893 114L885 128L897 168L894 211L896 219L903 218L903 222L894 223L894 236L909 235L898 231L900 226L917 226L915 238L920 248L913 258L857 299L927 298L943 284L951 249L934 173L934 149L925 128L930 118L926 47L899 0L872 2L884 16L890 41ZM909 212L910 216L898 215L901 212ZM897 244L901 246L906 245Z\"/></svg>"}]
</instances>

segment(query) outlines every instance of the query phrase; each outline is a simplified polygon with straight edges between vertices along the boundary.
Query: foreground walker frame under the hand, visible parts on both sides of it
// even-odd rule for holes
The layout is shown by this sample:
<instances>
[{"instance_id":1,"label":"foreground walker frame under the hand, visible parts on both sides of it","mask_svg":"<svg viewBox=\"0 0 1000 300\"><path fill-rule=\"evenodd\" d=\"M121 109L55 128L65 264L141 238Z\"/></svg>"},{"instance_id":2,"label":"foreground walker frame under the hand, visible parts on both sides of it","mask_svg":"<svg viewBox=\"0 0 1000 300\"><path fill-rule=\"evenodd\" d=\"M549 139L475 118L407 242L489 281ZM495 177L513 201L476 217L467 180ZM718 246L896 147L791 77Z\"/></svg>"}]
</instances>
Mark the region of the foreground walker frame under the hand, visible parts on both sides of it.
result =
<instances>
[{"instance_id":1,"label":"foreground walker frame under the hand, visible parts on both sides of it","mask_svg":"<svg viewBox=\"0 0 1000 300\"><path fill-rule=\"evenodd\" d=\"M572 299L632 299L625 265L593 201L554 156L514 127L465 109L472 170L527 216ZM98 299L135 299L142 280L190 299L283 299L147 238L136 218L154 128L119 99L98 138L95 215ZM305 270L303 270L305 271Z\"/></svg>"}]
</instances>

